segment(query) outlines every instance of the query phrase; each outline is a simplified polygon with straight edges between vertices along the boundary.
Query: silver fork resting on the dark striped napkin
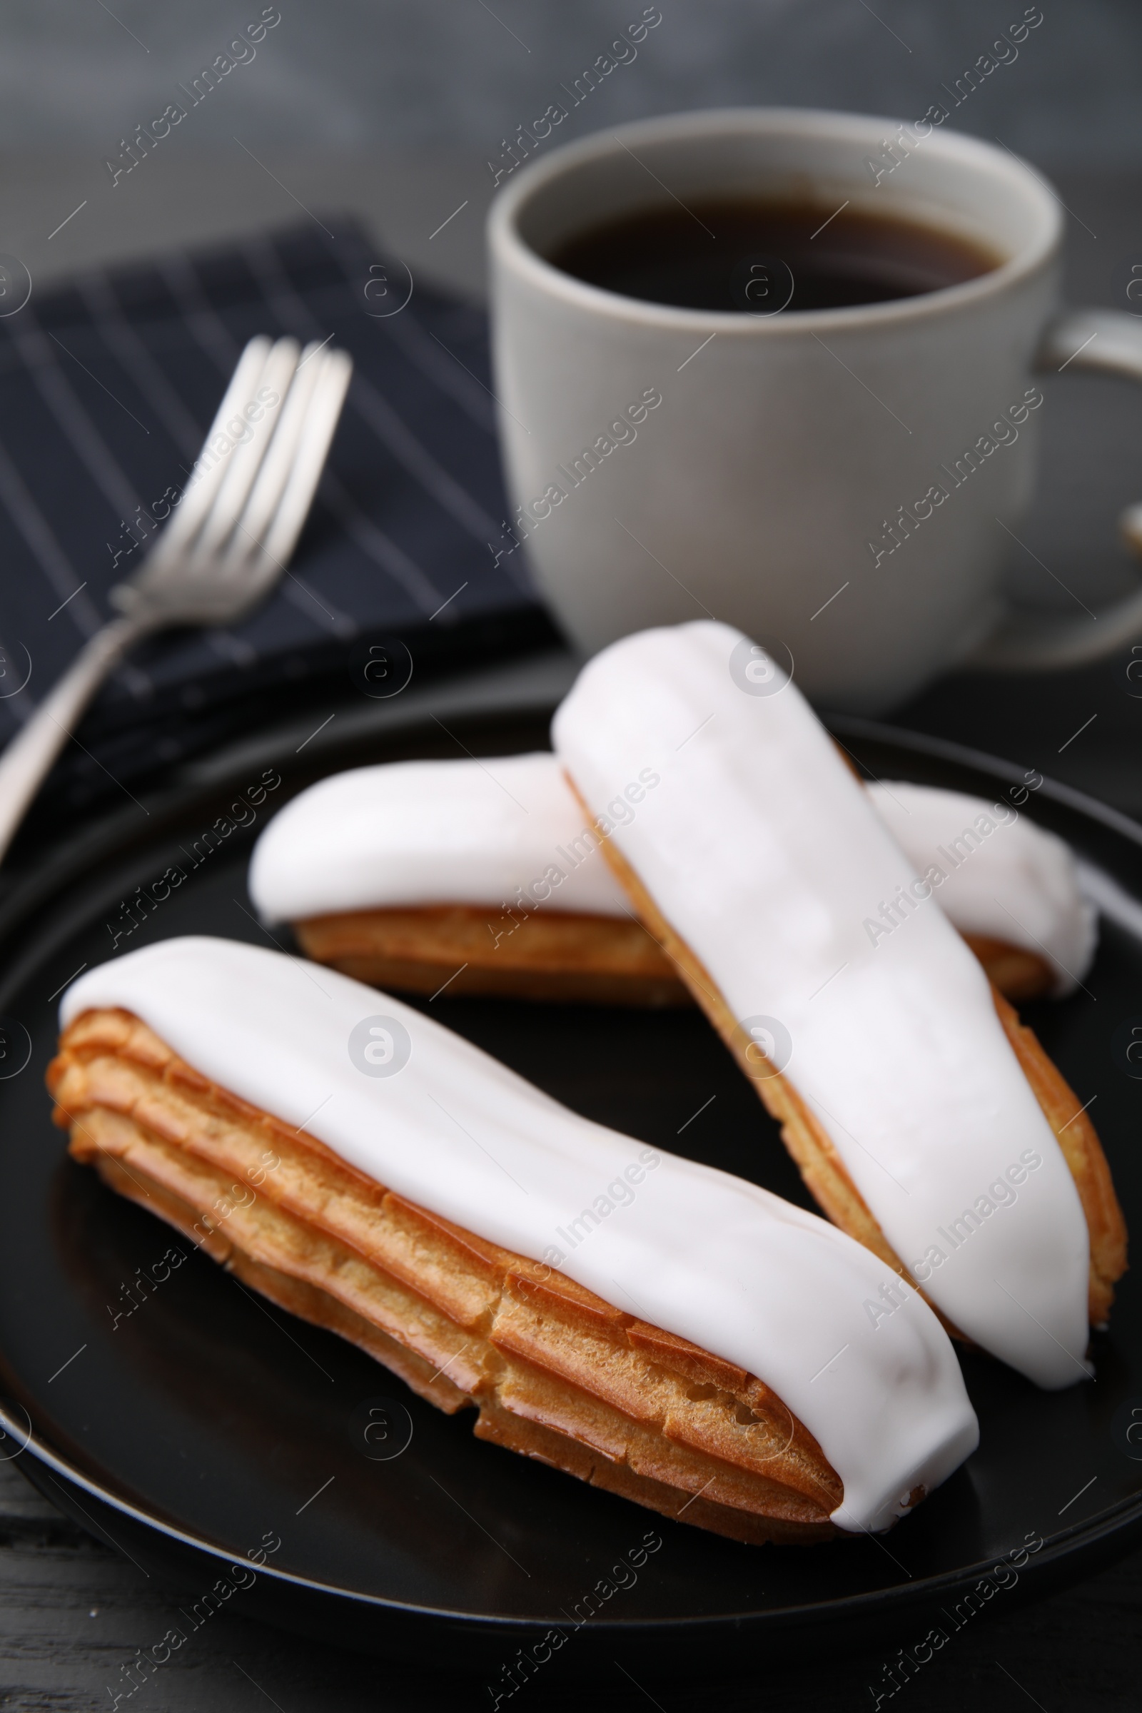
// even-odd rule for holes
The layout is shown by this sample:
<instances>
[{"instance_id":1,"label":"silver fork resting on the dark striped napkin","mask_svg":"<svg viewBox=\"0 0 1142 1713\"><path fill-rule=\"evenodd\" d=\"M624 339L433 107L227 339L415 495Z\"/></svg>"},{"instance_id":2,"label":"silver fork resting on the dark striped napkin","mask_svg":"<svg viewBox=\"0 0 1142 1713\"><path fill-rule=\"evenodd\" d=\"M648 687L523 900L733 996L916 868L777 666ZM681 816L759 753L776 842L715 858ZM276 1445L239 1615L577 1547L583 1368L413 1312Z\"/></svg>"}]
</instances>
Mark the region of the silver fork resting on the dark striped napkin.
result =
<instances>
[{"instance_id":1,"label":"silver fork resting on the dark striped napkin","mask_svg":"<svg viewBox=\"0 0 1142 1713\"><path fill-rule=\"evenodd\" d=\"M250 339L178 510L110 593L120 617L79 651L0 759L0 860L84 707L127 649L170 625L228 625L277 582L341 416L353 360Z\"/></svg>"}]
</instances>

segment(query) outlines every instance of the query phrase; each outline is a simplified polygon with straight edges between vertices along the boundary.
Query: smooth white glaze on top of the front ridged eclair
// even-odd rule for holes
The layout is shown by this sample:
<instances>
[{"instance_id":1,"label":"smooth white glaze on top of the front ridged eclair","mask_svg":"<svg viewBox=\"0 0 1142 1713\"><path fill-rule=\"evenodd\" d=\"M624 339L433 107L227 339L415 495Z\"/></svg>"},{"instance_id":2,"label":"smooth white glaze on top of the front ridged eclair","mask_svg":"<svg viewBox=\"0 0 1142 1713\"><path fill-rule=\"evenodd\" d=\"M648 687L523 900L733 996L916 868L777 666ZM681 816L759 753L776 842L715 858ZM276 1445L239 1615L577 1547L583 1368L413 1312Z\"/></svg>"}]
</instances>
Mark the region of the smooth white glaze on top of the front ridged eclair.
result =
<instances>
[{"instance_id":1,"label":"smooth white glaze on top of the front ridged eclair","mask_svg":"<svg viewBox=\"0 0 1142 1713\"><path fill-rule=\"evenodd\" d=\"M204 1076L409 1201L764 1379L841 1475L841 1528L887 1528L976 1446L943 1328L875 1256L764 1189L577 1117L389 995L195 937L82 975L62 1026L94 1007L134 1012ZM397 1040L396 1074L358 1067L361 1024ZM885 1286L901 1305L877 1317Z\"/></svg>"}]
</instances>

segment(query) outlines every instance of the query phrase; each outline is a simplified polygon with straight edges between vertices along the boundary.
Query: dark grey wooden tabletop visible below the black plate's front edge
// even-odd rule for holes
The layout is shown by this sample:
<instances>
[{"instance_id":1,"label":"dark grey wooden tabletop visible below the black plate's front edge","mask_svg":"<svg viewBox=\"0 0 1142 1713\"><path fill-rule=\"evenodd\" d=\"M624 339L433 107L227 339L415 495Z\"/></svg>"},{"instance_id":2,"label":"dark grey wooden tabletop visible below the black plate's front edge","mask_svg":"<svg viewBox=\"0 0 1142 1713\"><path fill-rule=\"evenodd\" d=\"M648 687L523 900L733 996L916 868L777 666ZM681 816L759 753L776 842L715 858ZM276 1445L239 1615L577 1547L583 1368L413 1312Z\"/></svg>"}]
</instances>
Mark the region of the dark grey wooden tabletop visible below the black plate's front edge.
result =
<instances>
[{"instance_id":1,"label":"dark grey wooden tabletop visible below the black plate's front edge","mask_svg":"<svg viewBox=\"0 0 1142 1713\"><path fill-rule=\"evenodd\" d=\"M19 1459L17 1459L19 1461ZM65 1521L0 1465L0 1706L58 1708L68 1713L111 1708L123 1667L173 1624L188 1629L178 1607L193 1591L159 1588L125 1559ZM998 1602L996 1602L998 1603ZM928 1713L1044 1713L1097 1708L1137 1713L1142 1679L1142 1552L1068 1593L1014 1612L979 1615L974 1629L950 1638L911 1696ZM901 1643L911 1643L911 1634ZM633 1687L620 1670L599 1672L587 1687L544 1682L546 1708L657 1704L683 1710L873 1708L871 1684L892 1658L880 1648L865 1658L830 1660L825 1648L796 1668L772 1672L758 1660L746 1679L726 1679L717 1660L693 1684L640 1677ZM455 1662L459 1663L459 1662ZM147 1713L404 1713L411 1708L491 1706L483 1682L440 1670L394 1668L378 1660L301 1641L219 1612L171 1655L130 1703ZM527 1691L517 1703L527 1704ZM887 1703L885 1703L887 1704Z\"/></svg>"}]
</instances>

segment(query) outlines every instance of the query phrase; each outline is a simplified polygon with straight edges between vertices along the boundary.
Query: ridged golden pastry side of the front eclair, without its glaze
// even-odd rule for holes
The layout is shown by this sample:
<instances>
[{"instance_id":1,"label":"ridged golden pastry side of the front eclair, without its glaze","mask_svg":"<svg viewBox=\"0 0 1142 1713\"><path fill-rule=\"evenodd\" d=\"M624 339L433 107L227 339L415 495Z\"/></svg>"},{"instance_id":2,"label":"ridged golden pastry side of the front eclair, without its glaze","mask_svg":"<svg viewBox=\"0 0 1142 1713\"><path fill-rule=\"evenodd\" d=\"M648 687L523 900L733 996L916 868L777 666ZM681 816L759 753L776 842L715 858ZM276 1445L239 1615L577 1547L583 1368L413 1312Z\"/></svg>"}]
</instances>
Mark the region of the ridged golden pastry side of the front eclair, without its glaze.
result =
<instances>
[{"instance_id":1,"label":"ridged golden pastry side of the front eclair, without its glaze","mask_svg":"<svg viewBox=\"0 0 1142 1713\"><path fill-rule=\"evenodd\" d=\"M79 1016L48 1088L75 1160L479 1437L735 1540L837 1533L841 1478L762 1381L396 1196L132 1014Z\"/></svg>"}]
</instances>

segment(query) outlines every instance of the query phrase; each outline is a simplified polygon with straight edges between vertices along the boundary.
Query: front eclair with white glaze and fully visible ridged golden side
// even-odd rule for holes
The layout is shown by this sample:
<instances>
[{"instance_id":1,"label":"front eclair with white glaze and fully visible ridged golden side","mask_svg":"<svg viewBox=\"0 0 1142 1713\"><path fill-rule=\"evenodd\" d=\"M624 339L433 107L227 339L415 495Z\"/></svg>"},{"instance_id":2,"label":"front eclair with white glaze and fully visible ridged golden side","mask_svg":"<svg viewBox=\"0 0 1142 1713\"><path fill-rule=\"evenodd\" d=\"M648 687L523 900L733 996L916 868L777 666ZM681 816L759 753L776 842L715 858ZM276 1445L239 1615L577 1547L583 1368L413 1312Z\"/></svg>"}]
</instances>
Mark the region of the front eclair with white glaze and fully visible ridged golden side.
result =
<instances>
[{"instance_id":1,"label":"front eclair with white glaze and fully visible ridged golden side","mask_svg":"<svg viewBox=\"0 0 1142 1713\"><path fill-rule=\"evenodd\" d=\"M866 1249L389 995L178 939L60 1024L77 1160L485 1439L755 1543L883 1530L976 1444L943 1328Z\"/></svg>"}]
</instances>

